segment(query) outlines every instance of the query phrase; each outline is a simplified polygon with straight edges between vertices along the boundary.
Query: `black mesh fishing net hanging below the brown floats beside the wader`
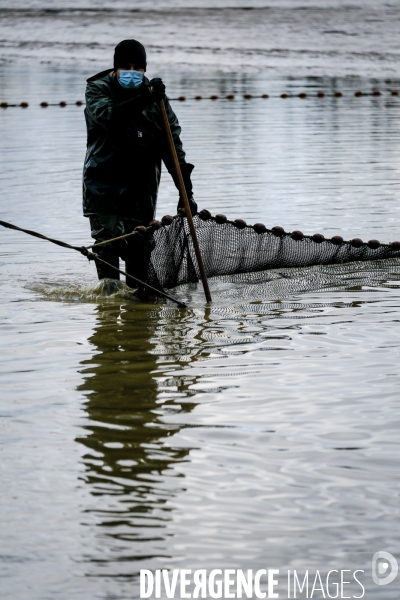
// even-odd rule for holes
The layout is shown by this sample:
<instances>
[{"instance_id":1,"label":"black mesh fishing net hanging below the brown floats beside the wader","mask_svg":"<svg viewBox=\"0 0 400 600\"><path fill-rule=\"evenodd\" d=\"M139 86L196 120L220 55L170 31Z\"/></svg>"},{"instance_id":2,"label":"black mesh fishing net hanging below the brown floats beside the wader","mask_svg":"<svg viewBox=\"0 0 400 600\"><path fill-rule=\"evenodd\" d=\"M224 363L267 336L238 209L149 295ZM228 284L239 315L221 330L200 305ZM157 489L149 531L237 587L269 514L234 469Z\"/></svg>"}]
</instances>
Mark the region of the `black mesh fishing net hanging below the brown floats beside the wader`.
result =
<instances>
[{"instance_id":1,"label":"black mesh fishing net hanging below the brown floats beside the wader","mask_svg":"<svg viewBox=\"0 0 400 600\"><path fill-rule=\"evenodd\" d=\"M225 220L225 222L224 222ZM151 255L149 283L171 288L199 278L196 258L186 219L164 218L154 233L156 247ZM251 273L283 267L341 264L400 256L400 243L379 244L376 240L344 242L335 236L303 236L280 228L246 226L224 217L210 218L202 211L194 218L197 237L208 277Z\"/></svg>"}]
</instances>

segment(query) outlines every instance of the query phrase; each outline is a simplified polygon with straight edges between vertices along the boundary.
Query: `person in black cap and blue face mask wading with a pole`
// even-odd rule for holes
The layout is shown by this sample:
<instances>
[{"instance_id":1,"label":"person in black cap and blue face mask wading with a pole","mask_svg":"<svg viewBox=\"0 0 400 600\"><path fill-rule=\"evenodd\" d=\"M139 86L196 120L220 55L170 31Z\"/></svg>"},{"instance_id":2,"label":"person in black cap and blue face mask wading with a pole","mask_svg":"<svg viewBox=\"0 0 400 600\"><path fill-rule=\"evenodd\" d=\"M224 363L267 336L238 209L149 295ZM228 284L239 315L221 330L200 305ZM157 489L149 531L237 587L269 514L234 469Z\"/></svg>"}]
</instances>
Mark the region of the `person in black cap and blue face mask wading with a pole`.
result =
<instances>
[{"instance_id":1,"label":"person in black cap and blue face mask wading with a pole","mask_svg":"<svg viewBox=\"0 0 400 600\"><path fill-rule=\"evenodd\" d=\"M85 118L87 151L83 169L83 214L90 219L96 242L130 233L138 225L148 226L155 217L161 161L175 184L176 176L166 134L160 100L164 100L175 148L189 198L193 200L190 174L193 165L185 161L180 140L181 128L165 96L161 79L145 77L146 51L136 40L124 40L114 53L114 69L87 80ZM178 208L183 206L179 199ZM100 258L146 281L152 237L140 234L95 249ZM119 273L96 263L99 279L119 279ZM127 285L136 287L130 278ZM138 290L139 294L144 292Z\"/></svg>"}]
</instances>

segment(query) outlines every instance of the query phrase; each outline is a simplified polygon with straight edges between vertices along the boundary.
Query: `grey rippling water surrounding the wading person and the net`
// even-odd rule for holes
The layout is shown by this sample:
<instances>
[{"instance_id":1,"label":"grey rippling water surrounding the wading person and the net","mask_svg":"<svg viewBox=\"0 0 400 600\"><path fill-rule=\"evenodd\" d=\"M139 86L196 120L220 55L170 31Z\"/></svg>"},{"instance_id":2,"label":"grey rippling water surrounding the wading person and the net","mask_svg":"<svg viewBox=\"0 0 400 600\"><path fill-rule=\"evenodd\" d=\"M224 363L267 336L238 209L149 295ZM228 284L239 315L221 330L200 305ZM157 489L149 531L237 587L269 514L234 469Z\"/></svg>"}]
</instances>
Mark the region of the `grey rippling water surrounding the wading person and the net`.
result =
<instances>
[{"instance_id":1,"label":"grey rippling water surrounding the wading person and the net","mask_svg":"<svg viewBox=\"0 0 400 600\"><path fill-rule=\"evenodd\" d=\"M129 6L58 4L2 14L0 99L30 106L0 113L0 218L84 244L73 103L127 37ZM199 205L400 239L400 100L389 93L400 91L400 11L250 4L258 12L137 3L133 34L171 97L237 95L173 102ZM300 91L306 100L279 97ZM176 200L165 175L158 217ZM398 582L373 586L370 564L378 550L400 557L399 261L212 280L210 307L184 286L182 311L126 291L104 298L80 255L0 236L1 597L128 600L140 568L269 567L364 569L366 598L398 599Z\"/></svg>"}]
</instances>

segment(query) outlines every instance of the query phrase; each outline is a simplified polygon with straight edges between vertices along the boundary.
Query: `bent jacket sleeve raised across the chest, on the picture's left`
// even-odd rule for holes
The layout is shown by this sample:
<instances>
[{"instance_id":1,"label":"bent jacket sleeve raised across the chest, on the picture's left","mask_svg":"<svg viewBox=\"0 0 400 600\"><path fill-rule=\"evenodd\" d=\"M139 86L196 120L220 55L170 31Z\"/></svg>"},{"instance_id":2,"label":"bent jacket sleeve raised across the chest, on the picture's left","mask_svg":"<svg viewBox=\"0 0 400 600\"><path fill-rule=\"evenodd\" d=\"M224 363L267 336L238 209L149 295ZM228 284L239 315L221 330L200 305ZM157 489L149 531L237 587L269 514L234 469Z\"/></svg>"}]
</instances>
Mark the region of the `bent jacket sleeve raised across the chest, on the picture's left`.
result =
<instances>
[{"instance_id":1,"label":"bent jacket sleeve raised across the chest, on the picture's left","mask_svg":"<svg viewBox=\"0 0 400 600\"><path fill-rule=\"evenodd\" d=\"M106 130L126 125L127 120L139 115L148 103L149 92L145 87L141 93L120 104L115 104L111 95L95 82L88 83L86 88L86 110L93 121Z\"/></svg>"}]
</instances>

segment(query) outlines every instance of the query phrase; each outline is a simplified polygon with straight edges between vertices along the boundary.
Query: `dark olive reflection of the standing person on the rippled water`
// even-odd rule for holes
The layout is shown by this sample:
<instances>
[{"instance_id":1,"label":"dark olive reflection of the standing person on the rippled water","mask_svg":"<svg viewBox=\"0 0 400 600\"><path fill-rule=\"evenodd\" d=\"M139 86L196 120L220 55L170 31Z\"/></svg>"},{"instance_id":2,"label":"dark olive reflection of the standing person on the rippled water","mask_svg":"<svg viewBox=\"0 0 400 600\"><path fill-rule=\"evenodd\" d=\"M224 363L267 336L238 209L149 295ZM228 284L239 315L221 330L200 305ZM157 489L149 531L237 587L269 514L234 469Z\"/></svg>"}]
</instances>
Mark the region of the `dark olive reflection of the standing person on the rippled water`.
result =
<instances>
[{"instance_id":1,"label":"dark olive reflection of the standing person on the rippled water","mask_svg":"<svg viewBox=\"0 0 400 600\"><path fill-rule=\"evenodd\" d=\"M180 427L163 423L160 415L163 405L157 402L157 383L151 375L157 367L152 335L151 321L134 306L125 304L123 311L115 305L99 307L89 339L94 352L82 363L79 390L87 398L89 423L87 435L77 441L88 449L84 481L93 498L85 513L101 528L92 552L102 564L91 564L94 574L99 566L103 575L110 570L115 575L118 569L132 575L139 567L118 561L127 556L131 561L141 556L151 560L160 554L160 546L168 553L169 498L183 491L181 474L175 478L173 470L189 449L173 445ZM184 403L181 410L194 406ZM176 482L172 490L171 481Z\"/></svg>"}]
</instances>

